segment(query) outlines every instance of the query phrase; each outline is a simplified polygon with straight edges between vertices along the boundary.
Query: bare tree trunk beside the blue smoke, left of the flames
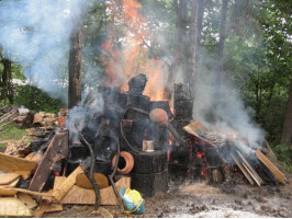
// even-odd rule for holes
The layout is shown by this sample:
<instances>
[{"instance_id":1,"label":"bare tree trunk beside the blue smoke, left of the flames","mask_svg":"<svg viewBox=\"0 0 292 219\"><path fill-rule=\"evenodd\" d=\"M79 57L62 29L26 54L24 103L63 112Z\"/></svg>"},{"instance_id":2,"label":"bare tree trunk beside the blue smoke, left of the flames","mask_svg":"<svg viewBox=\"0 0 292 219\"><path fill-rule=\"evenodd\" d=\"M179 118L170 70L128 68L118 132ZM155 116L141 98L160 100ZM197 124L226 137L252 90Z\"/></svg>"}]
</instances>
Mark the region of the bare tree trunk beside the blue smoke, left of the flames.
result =
<instances>
[{"instance_id":1,"label":"bare tree trunk beside the blue smoke, left of the flames","mask_svg":"<svg viewBox=\"0 0 292 219\"><path fill-rule=\"evenodd\" d=\"M81 14L76 15L75 26L70 36L69 54L69 88L68 107L81 101L81 66L82 66L82 21Z\"/></svg>"}]
</instances>

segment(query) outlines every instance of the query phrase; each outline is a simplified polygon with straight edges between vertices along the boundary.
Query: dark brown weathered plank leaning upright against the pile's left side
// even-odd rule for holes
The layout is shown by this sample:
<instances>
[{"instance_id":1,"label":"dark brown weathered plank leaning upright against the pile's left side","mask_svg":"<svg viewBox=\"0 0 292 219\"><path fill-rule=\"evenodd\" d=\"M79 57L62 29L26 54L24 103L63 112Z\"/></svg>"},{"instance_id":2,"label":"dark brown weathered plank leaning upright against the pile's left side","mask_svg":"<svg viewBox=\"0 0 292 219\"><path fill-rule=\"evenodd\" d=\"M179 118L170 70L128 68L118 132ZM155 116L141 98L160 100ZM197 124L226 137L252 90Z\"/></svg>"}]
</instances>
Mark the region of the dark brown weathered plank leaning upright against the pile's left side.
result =
<instances>
[{"instance_id":1,"label":"dark brown weathered plank leaning upright against the pile's left side","mask_svg":"<svg viewBox=\"0 0 292 219\"><path fill-rule=\"evenodd\" d=\"M31 181L30 191L41 192L54 164L68 154L68 131L57 132L52 139L43 160Z\"/></svg>"}]
</instances>

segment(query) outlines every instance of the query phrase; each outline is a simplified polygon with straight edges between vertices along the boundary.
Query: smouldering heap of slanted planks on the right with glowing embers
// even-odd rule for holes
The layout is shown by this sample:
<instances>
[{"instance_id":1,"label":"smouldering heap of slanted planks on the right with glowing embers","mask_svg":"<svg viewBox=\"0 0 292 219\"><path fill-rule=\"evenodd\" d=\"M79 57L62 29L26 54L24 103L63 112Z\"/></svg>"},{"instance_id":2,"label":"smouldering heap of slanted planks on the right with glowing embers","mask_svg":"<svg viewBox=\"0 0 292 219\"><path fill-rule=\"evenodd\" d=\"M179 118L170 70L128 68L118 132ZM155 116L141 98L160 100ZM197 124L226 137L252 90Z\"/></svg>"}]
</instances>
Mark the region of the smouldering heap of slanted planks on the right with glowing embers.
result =
<instances>
[{"instance_id":1,"label":"smouldering heap of slanted planks on the right with glowing embers","mask_svg":"<svg viewBox=\"0 0 292 219\"><path fill-rule=\"evenodd\" d=\"M235 171L251 185L287 184L284 174L270 161L277 159L267 141L261 147L248 146L236 135L207 129L198 120L192 120L183 129L195 138L196 150L203 154L214 182L221 178L222 183L236 166L238 171Z\"/></svg>"}]
</instances>

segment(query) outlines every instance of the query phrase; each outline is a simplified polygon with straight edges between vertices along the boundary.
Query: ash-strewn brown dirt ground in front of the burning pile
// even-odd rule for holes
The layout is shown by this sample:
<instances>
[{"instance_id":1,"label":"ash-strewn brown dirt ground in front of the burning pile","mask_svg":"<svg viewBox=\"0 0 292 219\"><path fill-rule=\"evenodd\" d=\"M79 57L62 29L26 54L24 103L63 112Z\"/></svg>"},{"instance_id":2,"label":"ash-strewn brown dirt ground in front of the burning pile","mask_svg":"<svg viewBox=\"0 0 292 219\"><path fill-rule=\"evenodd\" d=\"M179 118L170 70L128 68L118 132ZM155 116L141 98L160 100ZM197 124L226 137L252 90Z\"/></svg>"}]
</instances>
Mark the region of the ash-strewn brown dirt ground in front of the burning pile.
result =
<instances>
[{"instance_id":1,"label":"ash-strewn brown dirt ground in front of the burning pile","mask_svg":"<svg viewBox=\"0 0 292 219\"><path fill-rule=\"evenodd\" d=\"M169 191L145 199L144 215L123 215L117 206L66 205L49 218L292 218L292 177L289 184L261 187L246 183L211 185L206 181L175 180Z\"/></svg>"}]
</instances>

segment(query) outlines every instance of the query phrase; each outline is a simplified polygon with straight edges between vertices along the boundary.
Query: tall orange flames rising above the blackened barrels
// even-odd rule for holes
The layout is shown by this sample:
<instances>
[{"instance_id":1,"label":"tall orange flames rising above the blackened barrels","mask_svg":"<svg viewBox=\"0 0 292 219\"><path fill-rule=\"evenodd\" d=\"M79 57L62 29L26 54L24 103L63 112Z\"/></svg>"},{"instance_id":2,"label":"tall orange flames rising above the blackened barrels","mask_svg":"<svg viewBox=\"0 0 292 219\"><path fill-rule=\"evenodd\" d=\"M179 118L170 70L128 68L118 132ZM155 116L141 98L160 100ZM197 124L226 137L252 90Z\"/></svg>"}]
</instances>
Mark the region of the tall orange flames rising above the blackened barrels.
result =
<instances>
[{"instance_id":1,"label":"tall orange flames rising above the blackened barrels","mask_svg":"<svg viewBox=\"0 0 292 219\"><path fill-rule=\"evenodd\" d=\"M137 0L123 0L122 3L108 1L108 13L113 18L113 25L109 28L110 38L102 45L106 66L104 82L121 87L125 92L132 77L145 73L148 82L144 94L151 101L166 101L165 66L161 60L148 58L153 37L147 21L139 12L141 8ZM117 36L121 30L123 36Z\"/></svg>"}]
</instances>

